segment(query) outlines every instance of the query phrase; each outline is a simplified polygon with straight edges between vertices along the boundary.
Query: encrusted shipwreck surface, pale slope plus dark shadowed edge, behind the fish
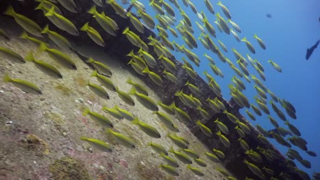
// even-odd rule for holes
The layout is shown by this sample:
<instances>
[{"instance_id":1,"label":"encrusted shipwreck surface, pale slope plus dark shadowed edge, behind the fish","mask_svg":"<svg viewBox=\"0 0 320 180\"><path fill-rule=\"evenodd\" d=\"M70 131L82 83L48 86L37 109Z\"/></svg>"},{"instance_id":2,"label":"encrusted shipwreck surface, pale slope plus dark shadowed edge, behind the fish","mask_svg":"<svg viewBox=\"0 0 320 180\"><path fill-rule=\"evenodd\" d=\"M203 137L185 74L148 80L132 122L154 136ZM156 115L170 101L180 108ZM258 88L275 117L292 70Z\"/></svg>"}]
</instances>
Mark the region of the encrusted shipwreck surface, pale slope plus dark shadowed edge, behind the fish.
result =
<instances>
[{"instance_id":1,"label":"encrusted shipwreck surface, pale slope plus dark shadowed edge, behind the fish","mask_svg":"<svg viewBox=\"0 0 320 180\"><path fill-rule=\"evenodd\" d=\"M23 3L9 0L1 1L0 12L3 12L7 5L12 4L16 12L31 18L40 27L49 24L51 30L64 35L72 44L75 44L75 49L81 55L94 57L97 61L107 63L114 72L111 80L122 91L129 91L131 88L130 85L125 83L126 79L131 77L134 81L147 86L149 92L153 92L150 93L150 96L156 102L161 100L164 104L171 104L174 100L176 106L185 110L193 120L192 122L178 122L178 119L171 116L178 123L179 135L184 136L191 142L190 149L199 153L202 159L206 159L204 152L211 151L213 148L224 151L226 155L225 159L220 159L220 163L206 160L208 166L202 168L205 174L204 179L226 179L221 172L215 170L217 167L226 168L231 176L239 179L245 179L246 176L258 179L243 164L243 160L248 157L244 155L244 151L239 144L239 135L234 129L235 124L229 121L224 113L215 114L210 110L206 99L208 97L213 99L215 94L200 76L198 76L198 80L192 80L182 68L182 63L176 61L176 59L171 59L177 67L176 77L180 80L179 84L174 85L166 80L162 75L164 67L161 63L158 63L157 68L152 69L152 71L163 78L164 84L163 87L155 85L148 76L141 76L132 70L131 66L126 65L130 60L129 57L126 57L126 54L132 49L137 50L137 48L131 45L122 31L125 27L129 27L131 31L137 33L146 42L148 42L148 36L155 37L155 33L150 30L146 30L144 34L135 31L128 18L121 18L114 13L109 5L105 5L103 8L105 14L113 18L120 27L118 36L111 36L101 29L96 20L93 20L92 15L87 13L93 5L93 1L79 0L75 2L79 7L79 13L74 14L61 8L64 16L71 20L78 29L84 23L90 21L90 26L98 30L103 36L106 44L105 48L94 44L83 31L79 31L79 36L73 36L57 29L44 17L42 11L34 10L34 7L38 4L36 1L23 1ZM30 50L34 50L38 59L49 59L44 52L37 52L37 46L18 38L21 27L18 27L12 18L0 16L0 27L8 31L12 37L10 41L1 39L0 46L12 48L23 57ZM14 31L10 31L10 29ZM151 46L149 46L149 49L149 53L157 57ZM36 70L32 63L21 65L0 57L1 78L3 78L4 73L8 73L14 78L22 78L36 83L44 92L39 96L26 94L20 89L0 81L0 121L2 124L0 129L0 179L3 177L8 179L174 179L158 167L163 161L159 160L159 156L152 152L150 147L146 147L151 138L143 134L135 125L126 120L112 119L105 113L106 117L109 117L116 124L115 127L118 132L135 139L137 149L130 150L117 146L112 138L105 135L101 126L94 123L89 117L81 115L85 108L103 113L102 106L111 108L118 105L133 112L142 121L163 129L161 130L162 140L152 139L152 141L165 146L167 149L172 145L170 140L165 138L168 129L161 123L154 121L157 117L137 101L135 101L135 106L132 107L122 102L116 93L110 92L110 100L103 101L90 92L85 85L89 79L90 82L96 80L90 78L92 69L86 63L83 63L85 57L80 56L79 58L75 52L70 50L64 52L74 59L77 62L77 67L79 67L77 71L62 68L62 74L64 74L62 80L51 80L48 78L49 76ZM212 115L209 120L203 123L212 132L218 131L217 125L213 123L217 118L229 127L230 132L226 137L230 140L230 148L224 147L218 136L208 137L204 135L196 125L196 121L201 117L199 112L184 106L178 97L174 96L174 93L181 89L184 93L191 93L184 86L187 80L200 89L202 95L198 98L202 102L202 108L208 110L209 114ZM233 100L230 102L223 98L219 98L219 100L224 103L228 112L237 116L240 121L250 127L251 133L243 138L243 140L250 142L250 147L259 146L265 149L274 149L271 144L264 145L257 140L256 137L259 132L239 114L239 106ZM30 140L28 138L29 134L34 134L40 140ZM92 153L92 148L81 141L80 136L105 140L115 146L114 152L101 153L94 149ZM46 152L46 150L49 152ZM263 162L257 165L272 168L275 175L280 172L291 174L289 168L286 167L285 158L276 149L274 151L278 153L278 157L274 161L270 162L263 157ZM179 168L180 177L176 179L197 179L190 170L185 168L185 165L181 165L181 168ZM196 165L193 164L193 166ZM300 179L297 175L291 174L291 176L294 176L297 180Z\"/></svg>"}]
</instances>

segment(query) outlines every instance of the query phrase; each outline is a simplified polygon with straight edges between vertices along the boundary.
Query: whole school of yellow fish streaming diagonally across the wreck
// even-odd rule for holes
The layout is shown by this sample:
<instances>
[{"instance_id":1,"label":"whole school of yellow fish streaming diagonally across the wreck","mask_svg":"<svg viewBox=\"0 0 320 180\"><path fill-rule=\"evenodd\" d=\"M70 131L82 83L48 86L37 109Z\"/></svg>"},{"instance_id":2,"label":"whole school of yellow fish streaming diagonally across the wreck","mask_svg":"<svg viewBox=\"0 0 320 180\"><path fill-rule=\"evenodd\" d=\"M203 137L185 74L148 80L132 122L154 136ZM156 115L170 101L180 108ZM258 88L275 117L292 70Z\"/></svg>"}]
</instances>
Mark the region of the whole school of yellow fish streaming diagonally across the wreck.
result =
<instances>
[{"instance_id":1,"label":"whole school of yellow fish streaming diagonally across the wreck","mask_svg":"<svg viewBox=\"0 0 320 180\"><path fill-rule=\"evenodd\" d=\"M85 31L90 39L94 43L98 44L98 46L103 47L108 43L106 38L101 36L101 33L90 26L90 21L93 19L81 27L76 27L74 23L62 14L63 11L59 8L65 8L70 12L77 13L77 5L73 0L35 1L38 1L38 6L35 7L35 10L42 10L43 16L51 21L50 26L53 24L62 31L66 31L67 33L75 36L79 35L79 31ZM170 59L175 59L174 53L182 53L185 55L188 60L183 58L181 61L184 62L182 67L189 75L189 80L187 80L186 83L183 83L183 85L181 85L181 89L176 91L174 95L177 96L185 106L197 110L202 118L191 119L183 108L176 106L175 102L172 102L172 104L155 102L148 96L148 91L144 86L139 85L137 82L133 82L130 78L126 83L132 85L131 91L129 91L129 93L121 91L111 80L111 68L105 63L101 63L90 58L86 62L92 64L95 69L92 73L92 78L96 78L98 82L100 82L98 85L88 80L87 86L91 91L93 91L98 97L105 100L109 100L109 93L118 93L120 99L129 106L135 106L135 104L139 102L148 110L152 110L153 114L157 116L166 127L168 127L170 132L168 132L166 137L161 136L157 127L152 127L152 125L144 123L142 119L138 119L138 117L133 115L133 113L124 110L119 106L114 106L114 108L103 107L102 110L109 113L109 115L115 119L126 119L130 121L133 125L137 125L142 132L150 136L150 142L147 147L151 147L154 151L159 153L159 156L163 157L164 162L163 164L159 164L159 168L168 172L168 174L172 176L179 176L178 168L181 167L179 167L176 160L183 162L183 164L187 164L185 168L193 172L194 175L204 176L205 174L202 168L206 168L206 164L210 161L218 162L220 159L225 158L225 154L219 149L213 149L210 152L206 152L204 155L200 155L194 150L188 149L188 140L176 134L179 132L178 127L176 127L175 122L168 115L176 115L176 117L181 121L195 123L206 136L219 138L219 141L222 142L222 145L225 147L230 147L228 133L230 131L237 132L237 134L239 134L239 145L241 145L243 155L246 157L245 160L243 160L243 165L248 166L254 175L260 179L294 179L291 175L284 172L275 174L272 167L261 166L261 164L259 164L259 162L262 162L263 158L273 161L274 158L276 158L276 153L271 149L252 147L250 142L245 141L246 134L250 134L251 132L250 127L226 110L226 107L222 102L221 88L215 78L209 74L209 70L204 71L203 74L206 77L209 87L215 94L215 97L205 97L205 102L200 101L202 92L201 89L197 87L198 74L195 72L192 63L199 67L201 61L207 60L209 61L209 67L213 74L220 78L224 78L222 70L217 66L217 63L215 63L215 60L213 59L216 55L217 59L222 61L222 63L227 63L235 72L235 76L232 77L231 84L229 85L230 95L235 102L232 106L245 108L246 114L252 121L258 121L259 117L263 114L269 115L268 119L275 127L275 130L268 131L263 129L260 125L257 125L256 128L261 132L261 134L256 138L264 144L269 143L267 138L274 138L280 145L287 147L287 166L293 172L299 174L303 179L310 179L308 174L297 168L294 162L296 160L296 162L299 162L306 168L311 167L310 162L308 162L308 160L304 160L294 147L302 149L312 157L317 156L315 152L307 149L306 140L301 137L302 134L290 121L290 119L297 119L295 115L295 107L287 100L277 97L264 85L263 81L267 80L264 72L267 68L263 67L258 59L253 59L251 57L258 52L259 48L266 50L266 45L261 37L258 37L256 34L252 35L252 37L239 37L243 29L241 29L241 27L232 20L232 13L221 1L216 3L217 7L214 6L215 4L213 4L213 1L209 0L181 1L182 3L178 2L178 0L152 0L148 2L148 5L150 5L152 10L155 11L152 13L157 14L155 17L150 16L146 11L146 7L144 5L147 3L142 3L137 0L133 0L131 2L122 0L119 3L115 0L107 0L105 2L101 0L92 0L92 7L88 9L88 13L92 14L92 17L96 20L98 25L100 25L104 31L109 33L109 35L123 35L133 46L136 46L137 49L139 49L133 49L127 54L128 57L131 57L131 61L129 61L128 65L131 65L133 70L138 74L147 75L150 80L159 87L163 86L164 83L164 79L161 78L161 76L165 77L165 80L169 80L174 84L179 85L180 82L176 78L176 65ZM194 3L204 3L210 14L204 14L203 10L197 10ZM130 4L132 8L130 8L129 12L126 12L126 9L122 7L121 4ZM121 16L122 18L129 18L135 29L129 29L129 27L119 29L117 22L109 16L106 16L105 12L103 12L101 7L104 5L110 5L118 16ZM181 6L185 7L182 8ZM185 8L190 8L191 11L186 12L183 10ZM215 12L216 8L221 8L223 14ZM51 59L57 61L63 67L72 71L77 70L75 61L64 53L65 49L73 50L72 45L64 36L56 33L55 31L51 31L49 29L49 25L41 28L33 20L23 16L22 14L16 13L11 5L7 10L5 10L4 14L12 16L16 23L23 28L23 33L20 36L21 38L37 44L39 51L46 52ZM199 21L193 22L190 20L189 16L198 16ZM198 28L201 33L198 35L195 34L194 28ZM157 37L150 36L146 42L142 40L137 33L135 33L144 33L146 29L150 29L152 31L157 29ZM245 44L249 52L243 56L235 48L228 48L222 40L218 40L219 33L226 33L228 35L231 33L237 42ZM0 29L0 35L5 40L10 40L10 36L2 29ZM198 36L198 38L196 36ZM169 37L181 39L184 43L178 44L174 40L169 39ZM46 42L43 41L45 38L51 40L51 42L57 45L59 49L50 48L49 44L46 44ZM151 55L149 51L151 47L157 56ZM200 55L193 52L192 49L194 48L203 48L203 56L205 57L205 60L200 58ZM232 52L235 58L228 59L228 57L226 57L226 53L228 52ZM1 55L9 57L9 59L16 63L27 63L27 61L30 61L34 63L39 70L48 74L52 78L66 78L64 74L59 72L57 67L40 59L36 59L33 52L29 52L26 57L21 57L21 55L18 55L18 53L14 52L10 48L0 46L0 53ZM267 62L270 63L274 70L282 72L282 68L276 62L271 59ZM161 76L152 71L152 69L157 67L159 63L162 63L165 67ZM248 70L249 65L256 70L258 77ZM243 78L246 82L241 80ZM11 82L12 85L21 88L26 93L34 93L38 95L46 93L34 83L22 79L11 78L9 74L5 74L3 81ZM256 102L249 102L248 98L245 97L243 93L243 91L248 88L249 83L254 84L254 89L256 89L257 95L254 97ZM192 92L191 94L184 93L183 87L185 86ZM268 95L271 97L269 103L267 100ZM208 103L211 109L204 109L202 106L203 103ZM271 106L272 110L274 110L278 117L270 116L268 106ZM164 112L161 112L159 108ZM285 111L286 114L283 111ZM232 127L228 127L219 119L211 119L211 117L217 113L224 113L234 125ZM113 136L119 145L129 149L134 149L137 146L134 140L129 136L126 136L125 133L122 134L121 132L117 132L113 129L114 125L112 123L112 119L108 119L98 112L91 111L89 108L86 108L83 111L83 115L89 116L93 121L97 121L98 123L101 123L101 125L104 125L104 127L106 127L106 134L108 136ZM283 121L284 125L286 125L288 129L280 127L279 123L281 121L278 121L277 119ZM209 127L206 127L205 123L209 120L214 121L219 128L218 132L212 132ZM113 147L111 147L107 142L103 142L93 137L82 136L79 138L88 142L92 147L99 151L113 151ZM151 138L168 138L178 149L174 148L173 145L170 149L165 149L162 145L152 142ZM204 159L209 160L209 162ZM191 165L193 162L196 162L196 165ZM223 175L226 175L227 179L236 179L220 168L216 168L216 170L219 170ZM315 173L313 178L319 179L319 173ZM247 177L245 179L249 180L250 178Z\"/></svg>"}]
</instances>

